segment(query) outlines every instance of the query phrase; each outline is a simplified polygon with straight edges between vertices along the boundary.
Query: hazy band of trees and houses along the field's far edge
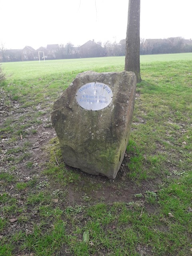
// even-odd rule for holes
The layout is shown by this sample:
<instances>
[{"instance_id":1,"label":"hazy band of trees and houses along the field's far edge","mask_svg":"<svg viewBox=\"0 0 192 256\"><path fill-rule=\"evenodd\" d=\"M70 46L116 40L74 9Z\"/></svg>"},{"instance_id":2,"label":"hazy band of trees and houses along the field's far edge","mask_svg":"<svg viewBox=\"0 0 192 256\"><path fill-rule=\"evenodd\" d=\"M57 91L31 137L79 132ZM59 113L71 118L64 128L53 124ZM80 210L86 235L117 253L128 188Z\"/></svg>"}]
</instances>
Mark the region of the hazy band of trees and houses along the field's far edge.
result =
<instances>
[{"instance_id":1,"label":"hazy band of trees and houses along the field's far edge","mask_svg":"<svg viewBox=\"0 0 192 256\"><path fill-rule=\"evenodd\" d=\"M31 46L23 49L6 49L0 44L0 62L12 62L23 60L38 60L39 51L44 52L46 60L69 59L69 58L93 58L105 56L125 56L126 40L120 42L95 42L89 40L81 46L74 47L71 42L67 44L49 44L37 50ZM192 52L192 40L182 37L171 37L166 39L140 39L140 54L166 54ZM40 53L42 59L42 53Z\"/></svg>"}]
</instances>

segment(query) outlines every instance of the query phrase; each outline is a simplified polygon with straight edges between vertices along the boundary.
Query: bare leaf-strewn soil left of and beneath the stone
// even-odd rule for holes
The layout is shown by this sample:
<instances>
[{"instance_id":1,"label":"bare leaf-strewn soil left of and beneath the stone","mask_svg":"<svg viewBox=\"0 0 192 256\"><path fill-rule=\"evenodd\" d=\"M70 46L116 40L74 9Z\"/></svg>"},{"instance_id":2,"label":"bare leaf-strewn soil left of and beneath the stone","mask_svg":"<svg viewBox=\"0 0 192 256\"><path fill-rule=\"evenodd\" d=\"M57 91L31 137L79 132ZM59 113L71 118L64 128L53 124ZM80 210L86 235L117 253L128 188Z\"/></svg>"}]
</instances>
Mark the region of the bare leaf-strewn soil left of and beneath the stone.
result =
<instances>
[{"instance_id":1,"label":"bare leaf-strewn soil left of and beneath the stone","mask_svg":"<svg viewBox=\"0 0 192 256\"><path fill-rule=\"evenodd\" d=\"M29 113L34 112L32 108L20 108L21 105L16 102L11 102L11 107L5 106L5 98L9 98L11 100L10 95L5 94L5 92L1 88L1 105L0 105L0 124L3 125L4 122L7 120L7 118L13 117L16 120L19 119L20 116L25 115L28 116ZM139 97L139 95L136 95L136 97ZM56 132L54 128L52 128L50 124L50 109L41 109L39 107L39 110L42 110L45 112L43 116L39 118L39 120L42 121L42 124L33 124L31 127L28 127L26 129L26 135L24 138L22 138L22 135L17 136L17 141L15 142L9 142L10 135L1 134L0 137L0 150L1 150L1 171L2 172L9 172L10 166L12 162L10 160L6 160L7 156L15 156L16 158L19 158L23 152L17 152L16 154L7 154L9 150L16 149L16 148L22 148L22 146L27 142L30 144L30 148L28 149L29 156L27 159L24 159L22 162L19 162L18 164L14 164L16 167L14 170L14 174L18 176L18 182L19 181L26 181L32 179L34 176L38 176L41 178L41 180L48 180L47 177L42 175L42 171L46 168L46 163L50 160L50 154L47 150L47 147L50 146L50 140L52 138L56 137ZM25 122L28 121L28 118L25 119ZM36 133L31 133L30 130L35 129ZM66 165L66 168L68 170L72 170L72 172L76 172L80 174L81 177L83 177L81 180L82 182L78 183L78 188L81 191L75 192L76 185L74 184L68 184L66 186L67 191L67 204L73 205L73 204L85 204L83 196L85 194L84 187L87 186L87 184L101 184L100 189L96 190L89 190L88 196L92 198L92 203L98 202L102 200L102 202L106 204L111 204L113 202L136 202L138 201L138 198L136 198L135 194L144 194L146 190L154 190L155 185L158 184L157 181L142 181L140 184L136 184L132 180L125 178L126 173L129 172L128 167L126 166L126 162L129 160L129 155L125 155L124 160L122 162L122 165L120 167L120 170L114 180L111 180L107 177L103 176L94 176L91 174L86 174L79 169L72 168L70 166ZM32 162L33 166L31 168L26 167L27 162ZM49 181L51 184L51 190L60 188L59 184L52 184L52 181ZM8 188L9 189L9 188ZM63 188L62 188L63 189ZM144 199L144 198L143 198ZM141 198L141 204L142 204L142 198ZM147 205L146 205L147 206ZM148 206L147 206L148 207ZM149 212L151 210L149 209Z\"/></svg>"}]
</instances>

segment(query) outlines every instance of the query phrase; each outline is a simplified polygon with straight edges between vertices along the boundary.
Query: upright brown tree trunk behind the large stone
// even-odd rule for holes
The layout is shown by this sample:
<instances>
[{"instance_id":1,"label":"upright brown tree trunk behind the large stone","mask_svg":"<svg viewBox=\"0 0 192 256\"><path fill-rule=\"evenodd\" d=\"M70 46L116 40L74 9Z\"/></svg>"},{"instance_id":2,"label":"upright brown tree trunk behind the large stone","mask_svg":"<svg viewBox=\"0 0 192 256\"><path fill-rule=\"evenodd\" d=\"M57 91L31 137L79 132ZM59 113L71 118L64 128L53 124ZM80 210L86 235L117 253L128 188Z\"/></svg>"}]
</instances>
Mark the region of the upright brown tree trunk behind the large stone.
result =
<instances>
[{"instance_id":1,"label":"upright brown tree trunk behind the large stone","mask_svg":"<svg viewBox=\"0 0 192 256\"><path fill-rule=\"evenodd\" d=\"M125 70L136 74L137 83L140 75L140 0L129 0L126 34Z\"/></svg>"}]
</instances>

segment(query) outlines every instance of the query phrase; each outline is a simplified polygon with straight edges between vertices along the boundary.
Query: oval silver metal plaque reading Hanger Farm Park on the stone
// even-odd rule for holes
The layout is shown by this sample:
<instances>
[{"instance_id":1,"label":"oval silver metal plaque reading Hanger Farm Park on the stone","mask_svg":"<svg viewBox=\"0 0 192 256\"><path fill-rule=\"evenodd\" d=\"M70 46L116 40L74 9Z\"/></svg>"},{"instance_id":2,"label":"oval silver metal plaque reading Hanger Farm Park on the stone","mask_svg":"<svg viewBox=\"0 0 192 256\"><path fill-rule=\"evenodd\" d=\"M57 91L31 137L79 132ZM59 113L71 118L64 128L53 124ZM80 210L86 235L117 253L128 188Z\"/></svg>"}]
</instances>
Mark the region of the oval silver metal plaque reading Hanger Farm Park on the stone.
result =
<instances>
[{"instance_id":1,"label":"oval silver metal plaque reading Hanger Farm Park on the stone","mask_svg":"<svg viewBox=\"0 0 192 256\"><path fill-rule=\"evenodd\" d=\"M99 82L82 85L76 92L77 103L87 110L100 110L106 108L113 98L110 87Z\"/></svg>"}]
</instances>

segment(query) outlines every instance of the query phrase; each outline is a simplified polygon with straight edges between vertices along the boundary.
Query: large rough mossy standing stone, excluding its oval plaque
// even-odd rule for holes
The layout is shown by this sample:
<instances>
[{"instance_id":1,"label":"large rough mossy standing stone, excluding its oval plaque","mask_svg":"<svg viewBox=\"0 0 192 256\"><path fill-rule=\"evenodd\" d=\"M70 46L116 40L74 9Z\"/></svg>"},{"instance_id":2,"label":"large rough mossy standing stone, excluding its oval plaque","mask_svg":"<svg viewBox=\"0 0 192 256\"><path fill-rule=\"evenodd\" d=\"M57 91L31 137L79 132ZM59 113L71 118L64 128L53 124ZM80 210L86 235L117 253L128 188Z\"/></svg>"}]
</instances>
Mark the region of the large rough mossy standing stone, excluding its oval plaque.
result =
<instances>
[{"instance_id":1,"label":"large rough mossy standing stone, excluding its oval plaque","mask_svg":"<svg viewBox=\"0 0 192 256\"><path fill-rule=\"evenodd\" d=\"M112 90L112 102L105 108L90 111L77 104L78 90L90 82ZM129 140L135 92L133 72L78 74L51 113L66 164L89 174L116 177Z\"/></svg>"}]
</instances>

